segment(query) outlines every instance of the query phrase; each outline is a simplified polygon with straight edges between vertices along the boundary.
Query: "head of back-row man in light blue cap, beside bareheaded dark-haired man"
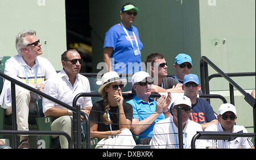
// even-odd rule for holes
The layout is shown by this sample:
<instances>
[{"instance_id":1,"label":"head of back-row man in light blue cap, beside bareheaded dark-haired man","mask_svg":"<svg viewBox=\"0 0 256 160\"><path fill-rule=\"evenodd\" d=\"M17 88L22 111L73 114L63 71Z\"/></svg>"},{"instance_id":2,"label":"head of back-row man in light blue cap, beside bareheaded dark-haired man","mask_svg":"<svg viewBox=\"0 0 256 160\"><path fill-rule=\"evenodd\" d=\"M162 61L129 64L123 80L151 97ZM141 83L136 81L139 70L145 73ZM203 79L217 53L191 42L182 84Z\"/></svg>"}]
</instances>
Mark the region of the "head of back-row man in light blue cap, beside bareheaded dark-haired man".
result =
<instances>
[{"instance_id":1,"label":"head of back-row man in light blue cap, beside bareheaded dark-haired man","mask_svg":"<svg viewBox=\"0 0 256 160\"><path fill-rule=\"evenodd\" d=\"M183 83L184 75L189 74L192 68L192 59L188 54L179 53L174 60L174 78Z\"/></svg>"}]
</instances>

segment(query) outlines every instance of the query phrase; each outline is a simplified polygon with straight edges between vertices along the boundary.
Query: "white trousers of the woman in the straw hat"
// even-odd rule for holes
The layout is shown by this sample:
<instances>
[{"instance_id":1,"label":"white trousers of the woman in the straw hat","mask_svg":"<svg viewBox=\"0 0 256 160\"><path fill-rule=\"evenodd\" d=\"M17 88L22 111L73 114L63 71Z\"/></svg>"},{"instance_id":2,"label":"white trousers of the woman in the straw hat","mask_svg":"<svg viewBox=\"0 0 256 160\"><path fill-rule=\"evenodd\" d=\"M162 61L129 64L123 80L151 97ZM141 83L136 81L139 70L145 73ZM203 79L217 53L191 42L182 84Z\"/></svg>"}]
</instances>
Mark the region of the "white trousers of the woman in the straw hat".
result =
<instances>
[{"instance_id":1,"label":"white trousers of the woman in the straw hat","mask_svg":"<svg viewBox=\"0 0 256 160\"><path fill-rule=\"evenodd\" d=\"M136 143L133 134L129 129L123 129L120 134L102 138L96 146L96 149L133 149Z\"/></svg>"}]
</instances>

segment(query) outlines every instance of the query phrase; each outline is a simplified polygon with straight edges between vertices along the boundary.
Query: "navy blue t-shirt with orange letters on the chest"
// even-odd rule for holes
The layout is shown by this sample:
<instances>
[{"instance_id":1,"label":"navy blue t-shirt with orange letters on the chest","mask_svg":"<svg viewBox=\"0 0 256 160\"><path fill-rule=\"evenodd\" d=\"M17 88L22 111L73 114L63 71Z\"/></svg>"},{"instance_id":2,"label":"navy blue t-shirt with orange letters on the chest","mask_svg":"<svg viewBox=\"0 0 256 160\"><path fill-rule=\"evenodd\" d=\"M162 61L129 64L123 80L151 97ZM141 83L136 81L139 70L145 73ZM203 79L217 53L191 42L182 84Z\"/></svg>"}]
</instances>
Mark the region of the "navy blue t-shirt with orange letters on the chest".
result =
<instances>
[{"instance_id":1,"label":"navy blue t-shirt with orange letters on the chest","mask_svg":"<svg viewBox=\"0 0 256 160\"><path fill-rule=\"evenodd\" d=\"M170 112L172 107L173 104L170 107ZM214 115L213 108L210 106L209 102L201 98L196 98L196 104L192 104L192 112L190 113L189 119L197 123L208 123L216 119L216 116Z\"/></svg>"}]
</instances>

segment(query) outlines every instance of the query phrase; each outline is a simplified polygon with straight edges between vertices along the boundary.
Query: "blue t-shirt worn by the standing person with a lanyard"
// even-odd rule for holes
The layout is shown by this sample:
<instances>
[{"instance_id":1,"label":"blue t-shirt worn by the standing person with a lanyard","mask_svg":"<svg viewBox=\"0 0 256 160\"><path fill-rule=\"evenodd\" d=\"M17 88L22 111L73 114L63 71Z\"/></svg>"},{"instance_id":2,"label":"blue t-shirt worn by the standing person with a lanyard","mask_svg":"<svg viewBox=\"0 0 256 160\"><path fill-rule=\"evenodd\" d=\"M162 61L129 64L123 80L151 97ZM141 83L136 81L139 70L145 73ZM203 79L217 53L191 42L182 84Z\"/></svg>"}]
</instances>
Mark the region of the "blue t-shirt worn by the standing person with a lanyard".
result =
<instances>
[{"instance_id":1,"label":"blue t-shirt worn by the standing person with a lanyard","mask_svg":"<svg viewBox=\"0 0 256 160\"><path fill-rule=\"evenodd\" d=\"M133 28L133 30L131 29ZM139 50L141 52L143 44L139 39L139 32L136 27L131 26L126 28L132 42L134 49L137 49L137 45L133 36L133 31L138 41ZM105 34L104 47L113 47L113 52L110 56L112 70L117 73L136 73L141 71L141 54L135 56L133 47L131 46L130 40L127 37L121 24L115 24ZM130 63L130 64L128 64Z\"/></svg>"}]
</instances>

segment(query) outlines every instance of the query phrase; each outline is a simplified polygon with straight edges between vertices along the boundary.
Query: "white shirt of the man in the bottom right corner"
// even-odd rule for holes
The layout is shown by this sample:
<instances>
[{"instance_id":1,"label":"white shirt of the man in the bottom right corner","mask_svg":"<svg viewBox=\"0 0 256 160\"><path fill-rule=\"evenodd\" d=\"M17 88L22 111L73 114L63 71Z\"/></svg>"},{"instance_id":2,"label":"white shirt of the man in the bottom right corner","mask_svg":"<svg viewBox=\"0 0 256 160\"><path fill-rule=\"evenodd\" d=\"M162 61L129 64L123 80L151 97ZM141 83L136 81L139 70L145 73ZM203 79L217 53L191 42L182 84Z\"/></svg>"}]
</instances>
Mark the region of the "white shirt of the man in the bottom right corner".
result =
<instances>
[{"instance_id":1,"label":"white shirt of the man in the bottom right corner","mask_svg":"<svg viewBox=\"0 0 256 160\"><path fill-rule=\"evenodd\" d=\"M204 131L217 131L217 132L224 132L221 127L221 124L213 124L209 127L205 128ZM241 125L234 125L232 133L237 132L247 133L245 127ZM241 146L243 149L253 147L253 143L251 142L249 137L234 137L231 140L205 140L207 143L207 147L214 147L219 149L238 149Z\"/></svg>"}]
</instances>

